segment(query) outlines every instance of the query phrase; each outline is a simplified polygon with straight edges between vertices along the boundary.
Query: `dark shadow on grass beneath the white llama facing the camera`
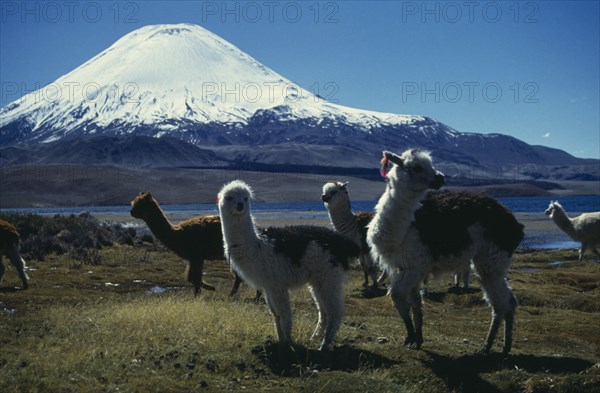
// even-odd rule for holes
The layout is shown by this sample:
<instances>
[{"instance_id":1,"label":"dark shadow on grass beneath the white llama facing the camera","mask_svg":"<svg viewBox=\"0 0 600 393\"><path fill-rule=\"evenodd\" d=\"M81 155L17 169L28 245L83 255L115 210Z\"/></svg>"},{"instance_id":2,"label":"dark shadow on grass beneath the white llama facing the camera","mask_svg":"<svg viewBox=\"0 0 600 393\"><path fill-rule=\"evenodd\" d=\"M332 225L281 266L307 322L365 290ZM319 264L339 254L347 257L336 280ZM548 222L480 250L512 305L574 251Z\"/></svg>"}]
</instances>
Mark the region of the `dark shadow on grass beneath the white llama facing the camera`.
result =
<instances>
[{"instance_id":1,"label":"dark shadow on grass beneath the white llama facing the camera","mask_svg":"<svg viewBox=\"0 0 600 393\"><path fill-rule=\"evenodd\" d=\"M289 377L300 377L313 370L353 372L368 368L388 368L400 363L348 345L322 352L298 344L283 348L277 342L267 341L264 345L254 347L252 353L274 374Z\"/></svg>"}]
</instances>

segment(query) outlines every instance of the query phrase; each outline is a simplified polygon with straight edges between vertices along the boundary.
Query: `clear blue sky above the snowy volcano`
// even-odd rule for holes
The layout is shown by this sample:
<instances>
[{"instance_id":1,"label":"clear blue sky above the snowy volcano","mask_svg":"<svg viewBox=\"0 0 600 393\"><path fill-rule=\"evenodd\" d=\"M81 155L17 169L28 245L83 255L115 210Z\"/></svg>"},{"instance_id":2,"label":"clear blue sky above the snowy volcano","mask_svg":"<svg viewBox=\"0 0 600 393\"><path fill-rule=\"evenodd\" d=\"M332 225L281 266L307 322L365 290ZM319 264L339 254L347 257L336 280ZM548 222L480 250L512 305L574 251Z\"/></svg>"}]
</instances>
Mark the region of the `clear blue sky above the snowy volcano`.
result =
<instances>
[{"instance_id":1,"label":"clear blue sky above the snowy volcano","mask_svg":"<svg viewBox=\"0 0 600 393\"><path fill-rule=\"evenodd\" d=\"M2 106L132 30L187 22L343 105L600 158L597 1L0 3Z\"/></svg>"}]
</instances>

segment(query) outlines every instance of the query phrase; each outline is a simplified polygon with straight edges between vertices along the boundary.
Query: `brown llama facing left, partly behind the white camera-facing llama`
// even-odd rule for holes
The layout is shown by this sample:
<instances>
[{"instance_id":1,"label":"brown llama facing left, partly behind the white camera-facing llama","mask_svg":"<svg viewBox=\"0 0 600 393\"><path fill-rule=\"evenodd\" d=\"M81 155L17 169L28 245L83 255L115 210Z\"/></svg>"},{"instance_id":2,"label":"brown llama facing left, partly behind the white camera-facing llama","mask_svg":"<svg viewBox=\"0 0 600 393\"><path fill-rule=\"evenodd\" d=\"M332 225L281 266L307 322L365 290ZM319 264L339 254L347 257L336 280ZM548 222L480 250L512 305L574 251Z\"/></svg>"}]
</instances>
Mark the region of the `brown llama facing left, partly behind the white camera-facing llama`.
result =
<instances>
[{"instance_id":1,"label":"brown llama facing left, partly behind the white camera-facing llama","mask_svg":"<svg viewBox=\"0 0 600 393\"><path fill-rule=\"evenodd\" d=\"M215 287L202 280L205 260L224 260L221 219L218 215L197 216L173 225L169 222L156 199L149 192L140 193L131 201L130 214L144 220L150 231L162 244L185 259L187 280L194 285L194 294L201 288L214 291ZM230 296L237 293L242 279L235 273ZM260 293L257 292L257 298Z\"/></svg>"}]
</instances>

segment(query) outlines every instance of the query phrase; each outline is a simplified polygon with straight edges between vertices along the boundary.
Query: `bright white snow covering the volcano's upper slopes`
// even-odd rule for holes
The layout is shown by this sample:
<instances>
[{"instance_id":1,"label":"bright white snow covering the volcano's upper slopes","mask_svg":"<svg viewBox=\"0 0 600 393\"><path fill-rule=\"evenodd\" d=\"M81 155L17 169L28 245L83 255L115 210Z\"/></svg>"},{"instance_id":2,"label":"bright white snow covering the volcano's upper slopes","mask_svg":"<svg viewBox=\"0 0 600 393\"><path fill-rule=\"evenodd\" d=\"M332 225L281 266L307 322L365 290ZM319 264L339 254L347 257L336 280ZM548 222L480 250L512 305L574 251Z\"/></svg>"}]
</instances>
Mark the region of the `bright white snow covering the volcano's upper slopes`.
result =
<instances>
[{"instance_id":1,"label":"bright white snow covering the volcano's upper slopes","mask_svg":"<svg viewBox=\"0 0 600 393\"><path fill-rule=\"evenodd\" d=\"M185 131L182 122L243 127L260 110L275 111L279 121L310 118L363 130L423 120L328 103L206 29L176 24L135 30L2 108L0 130L18 124L27 139L42 142L111 127L152 126L153 136L162 136Z\"/></svg>"}]
</instances>

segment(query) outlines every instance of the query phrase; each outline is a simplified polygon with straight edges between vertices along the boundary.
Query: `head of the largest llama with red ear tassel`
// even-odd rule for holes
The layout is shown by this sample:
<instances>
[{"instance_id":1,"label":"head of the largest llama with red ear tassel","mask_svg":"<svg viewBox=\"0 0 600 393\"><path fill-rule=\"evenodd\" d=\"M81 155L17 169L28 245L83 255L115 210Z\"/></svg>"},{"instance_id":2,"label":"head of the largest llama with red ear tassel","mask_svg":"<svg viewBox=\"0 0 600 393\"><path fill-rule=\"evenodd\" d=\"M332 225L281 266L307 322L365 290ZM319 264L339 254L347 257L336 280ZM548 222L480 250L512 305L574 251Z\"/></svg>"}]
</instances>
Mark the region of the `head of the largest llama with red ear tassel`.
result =
<instances>
[{"instance_id":1,"label":"head of the largest llama with red ear tassel","mask_svg":"<svg viewBox=\"0 0 600 393\"><path fill-rule=\"evenodd\" d=\"M406 150L401 155L383 152L382 174L387 174L390 184L413 191L439 189L444 185L444 174L433 166L428 152L419 149ZM387 172L389 163L394 164Z\"/></svg>"}]
</instances>

